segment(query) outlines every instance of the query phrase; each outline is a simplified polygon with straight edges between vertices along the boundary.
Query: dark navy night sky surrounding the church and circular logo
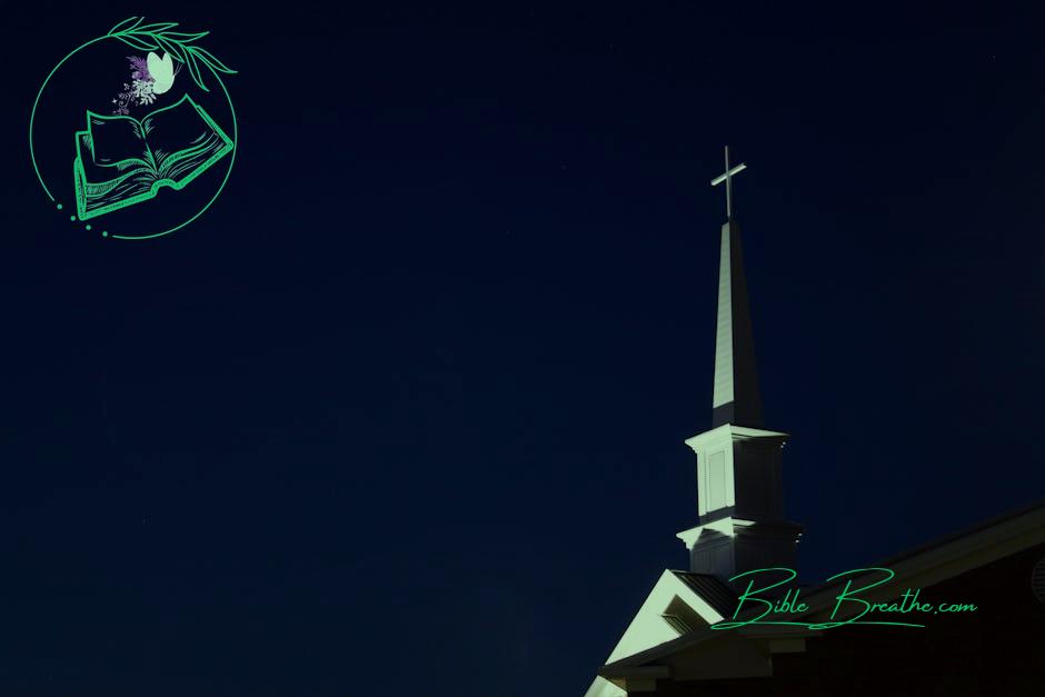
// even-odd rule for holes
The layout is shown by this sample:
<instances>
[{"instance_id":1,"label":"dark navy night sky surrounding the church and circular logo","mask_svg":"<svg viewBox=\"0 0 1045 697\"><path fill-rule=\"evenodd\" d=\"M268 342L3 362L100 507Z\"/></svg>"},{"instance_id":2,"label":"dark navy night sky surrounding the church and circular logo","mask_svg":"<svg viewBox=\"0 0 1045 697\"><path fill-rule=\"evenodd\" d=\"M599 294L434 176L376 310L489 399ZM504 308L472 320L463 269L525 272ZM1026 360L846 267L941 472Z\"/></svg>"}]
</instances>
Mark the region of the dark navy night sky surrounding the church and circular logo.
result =
<instances>
[{"instance_id":1,"label":"dark navy night sky surrounding the church and circular logo","mask_svg":"<svg viewBox=\"0 0 1045 697\"><path fill-rule=\"evenodd\" d=\"M800 580L1045 492L1032 3L220 4L0 2L0 694L579 697L688 564L726 143ZM239 143L120 241L27 132L140 13Z\"/></svg>"}]
</instances>

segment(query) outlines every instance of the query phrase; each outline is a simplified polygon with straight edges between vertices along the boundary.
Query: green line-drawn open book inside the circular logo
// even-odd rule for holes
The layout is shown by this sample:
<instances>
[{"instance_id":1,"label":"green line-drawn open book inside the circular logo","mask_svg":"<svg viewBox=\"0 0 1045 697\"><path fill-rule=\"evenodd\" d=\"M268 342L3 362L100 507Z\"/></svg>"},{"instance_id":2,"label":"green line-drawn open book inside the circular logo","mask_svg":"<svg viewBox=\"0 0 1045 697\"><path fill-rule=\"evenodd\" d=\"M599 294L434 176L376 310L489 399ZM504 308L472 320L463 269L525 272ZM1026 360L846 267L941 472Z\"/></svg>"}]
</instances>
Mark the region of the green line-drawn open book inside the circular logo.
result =
<instances>
[{"instance_id":1,"label":"green line-drawn open book inside the circular logo","mask_svg":"<svg viewBox=\"0 0 1045 697\"><path fill-rule=\"evenodd\" d=\"M188 94L141 120L88 111L87 130L76 135L77 213L87 220L149 200L160 187L183 189L232 147Z\"/></svg>"}]
</instances>

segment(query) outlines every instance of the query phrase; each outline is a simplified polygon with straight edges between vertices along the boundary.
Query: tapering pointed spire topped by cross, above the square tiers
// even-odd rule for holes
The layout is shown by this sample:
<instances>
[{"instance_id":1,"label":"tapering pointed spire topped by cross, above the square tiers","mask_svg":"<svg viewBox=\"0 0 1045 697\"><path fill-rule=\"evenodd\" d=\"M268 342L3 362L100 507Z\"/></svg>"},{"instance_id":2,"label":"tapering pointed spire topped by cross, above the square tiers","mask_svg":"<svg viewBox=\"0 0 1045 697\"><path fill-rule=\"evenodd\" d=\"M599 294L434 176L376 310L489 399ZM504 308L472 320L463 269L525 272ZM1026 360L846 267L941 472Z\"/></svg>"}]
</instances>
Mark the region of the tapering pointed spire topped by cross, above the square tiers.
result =
<instances>
[{"instance_id":1,"label":"tapering pointed spire topped by cross, above the square tiers","mask_svg":"<svg viewBox=\"0 0 1045 697\"><path fill-rule=\"evenodd\" d=\"M755 364L755 339L748 308L747 281L740 227L733 217L733 176L746 165L729 168L711 185L726 182L726 216L721 229L718 269L718 326L715 337L715 394L711 400L711 428L724 424L762 428L762 394Z\"/></svg>"}]
</instances>

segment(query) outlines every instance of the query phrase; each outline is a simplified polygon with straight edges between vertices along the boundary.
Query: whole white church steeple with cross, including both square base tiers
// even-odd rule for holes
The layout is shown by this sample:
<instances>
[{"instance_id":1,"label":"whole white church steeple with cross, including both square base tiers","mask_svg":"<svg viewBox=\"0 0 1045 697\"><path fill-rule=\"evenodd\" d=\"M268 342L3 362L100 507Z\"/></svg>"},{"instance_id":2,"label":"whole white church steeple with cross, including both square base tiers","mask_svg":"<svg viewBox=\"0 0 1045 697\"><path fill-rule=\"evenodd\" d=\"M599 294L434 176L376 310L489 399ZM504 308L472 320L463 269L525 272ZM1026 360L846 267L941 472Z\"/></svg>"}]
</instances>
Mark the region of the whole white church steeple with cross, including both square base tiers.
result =
<instances>
[{"instance_id":1,"label":"whole white church steeple with cross, including both square base tiers","mask_svg":"<svg viewBox=\"0 0 1045 697\"><path fill-rule=\"evenodd\" d=\"M690 568L723 578L754 568L790 566L802 526L784 518L782 449L787 434L765 430L755 345L744 276L740 229L733 216L729 167L711 185L726 183L721 228L718 325L711 430L686 444L697 456L699 525L678 534Z\"/></svg>"}]
</instances>

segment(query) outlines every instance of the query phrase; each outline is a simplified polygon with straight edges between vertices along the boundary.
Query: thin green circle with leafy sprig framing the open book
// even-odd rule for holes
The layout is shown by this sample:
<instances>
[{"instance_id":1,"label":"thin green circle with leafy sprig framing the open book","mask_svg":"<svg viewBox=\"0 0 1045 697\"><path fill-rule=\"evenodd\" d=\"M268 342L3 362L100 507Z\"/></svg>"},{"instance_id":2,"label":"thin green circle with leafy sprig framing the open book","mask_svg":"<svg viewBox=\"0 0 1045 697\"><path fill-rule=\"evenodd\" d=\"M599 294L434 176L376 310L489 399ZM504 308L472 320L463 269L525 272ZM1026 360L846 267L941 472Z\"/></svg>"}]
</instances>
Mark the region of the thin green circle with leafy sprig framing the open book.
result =
<instances>
[{"instance_id":1,"label":"thin green circle with leafy sprig framing the open book","mask_svg":"<svg viewBox=\"0 0 1045 697\"><path fill-rule=\"evenodd\" d=\"M142 23L143 21L145 19L140 17L128 18L123 20L122 22L119 22L118 24L112 27L112 29L110 29L109 32L106 33L104 36L97 37L94 39L86 41L84 43L74 48L69 53L67 53L64 58L58 61L58 63L50 70L48 76L44 78L43 83L40 84L40 89L37 91L37 97L32 102L32 110L30 111L30 114L29 114L29 158L30 158L30 161L32 162L33 171L37 175L37 180L40 182L40 187L43 189L43 193L48 197L48 199L50 199L51 202L54 202L56 200L54 195L51 193L51 189L47 186L47 182L44 182L43 180L43 175L40 172L40 167L37 162L37 157L36 157L36 148L33 145L34 143L36 114L37 114L37 109L40 104L40 99L43 96L43 92L47 90L48 83L51 81L51 78L54 77L54 73L58 72L58 70L66 63L66 61L68 61L73 56L76 56L83 49L88 48L89 46L92 46L94 43L106 41L109 39L122 41L123 43L141 51L157 51L157 50L165 51L166 53L172 56L173 60L180 62L183 67L188 69L189 74L192 78L192 81L205 92L210 91L210 87L208 87L208 82L205 82L205 76L207 73L210 73L209 78L213 78L213 83L217 83L217 86L220 88L221 94L225 97L226 103L228 104L229 114L231 118L231 127L232 127L231 138L229 138L228 136L225 136L225 131L222 131L220 128L216 128L216 132L220 132L221 136L225 136L225 140L231 143L231 148L225 150L225 152L222 152L221 156L215 159L215 161L217 161L218 159L223 157L225 153L229 155L228 169L226 170L225 177L221 179L221 183L218 186L217 191L215 191L210 200L208 200L192 216L190 216L185 221L171 228L168 228L159 232L148 233L148 235L116 235L116 233L109 233L108 231L103 231L102 237L110 238L110 239L122 239L122 240L155 239L155 238L175 232L176 230L180 230L181 228L193 222L197 218L202 216L211 207L211 205L213 205L213 202L218 199L218 197L225 190L225 187L229 180L229 176L232 173L232 166L236 162L236 151L238 149L238 142L239 142L239 126L238 126L237 117L236 117L236 108L232 104L232 98L229 96L229 90L226 87L225 81L221 78L222 74L225 76L237 74L237 71L226 66L222 61L220 61L217 57L215 57L210 51L208 51L207 49L202 48L201 46L197 43L197 41L208 36L210 32L209 31L196 32L196 33L181 32L181 31L175 31L175 28L178 27L177 22L158 22L158 23L152 23L152 24L143 24ZM195 102L193 102L193 106L198 107L197 104L195 104ZM200 111L200 117L205 121L215 123L213 119L210 118L209 114L207 114L201 109L199 111ZM217 127L216 123L215 126ZM78 153L80 152L79 150L80 146L86 145L82 141L82 136L83 136L83 131L79 131L76 136ZM83 161L79 157L79 155L77 159L80 160L81 162ZM213 162L209 162L206 166L201 166L199 170L197 171L196 176L201 173L205 169L209 168L211 165L213 165ZM192 177L192 179L195 179L195 177ZM73 181L76 186L78 183L76 176L73 178ZM159 180L157 180L156 183L158 183L159 186L173 186L173 182L176 181L181 181L181 186L183 187L189 181L191 181L191 179L189 179L188 177L186 177L185 179L180 179L180 180L172 179L170 183L160 182ZM180 188L180 187L175 187L175 188ZM155 193L152 196L155 196ZM79 193L77 195L77 198L79 199ZM141 200L145 200L145 199L141 199ZM58 203L58 208L61 209L61 203ZM101 213L96 212L94 215L101 215Z\"/></svg>"}]
</instances>

